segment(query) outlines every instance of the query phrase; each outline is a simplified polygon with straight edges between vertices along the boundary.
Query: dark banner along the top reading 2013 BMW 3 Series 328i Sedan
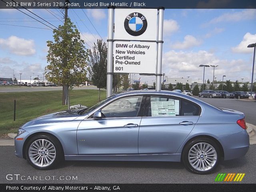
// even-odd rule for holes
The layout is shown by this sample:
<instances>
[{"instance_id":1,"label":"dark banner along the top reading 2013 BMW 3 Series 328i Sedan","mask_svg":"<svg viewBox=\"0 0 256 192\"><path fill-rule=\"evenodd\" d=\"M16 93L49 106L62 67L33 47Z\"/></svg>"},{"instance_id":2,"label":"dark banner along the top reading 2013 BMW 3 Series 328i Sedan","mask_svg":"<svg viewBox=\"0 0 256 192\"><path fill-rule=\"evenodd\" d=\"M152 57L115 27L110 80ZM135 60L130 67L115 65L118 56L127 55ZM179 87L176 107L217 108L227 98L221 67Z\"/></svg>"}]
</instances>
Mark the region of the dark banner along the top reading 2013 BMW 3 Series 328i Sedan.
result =
<instances>
[{"instance_id":1,"label":"dark banner along the top reading 2013 BMW 3 Series 328i Sedan","mask_svg":"<svg viewBox=\"0 0 256 192\"><path fill-rule=\"evenodd\" d=\"M166 9L255 9L256 0L0 0L1 9L105 9L158 8Z\"/></svg>"}]
</instances>

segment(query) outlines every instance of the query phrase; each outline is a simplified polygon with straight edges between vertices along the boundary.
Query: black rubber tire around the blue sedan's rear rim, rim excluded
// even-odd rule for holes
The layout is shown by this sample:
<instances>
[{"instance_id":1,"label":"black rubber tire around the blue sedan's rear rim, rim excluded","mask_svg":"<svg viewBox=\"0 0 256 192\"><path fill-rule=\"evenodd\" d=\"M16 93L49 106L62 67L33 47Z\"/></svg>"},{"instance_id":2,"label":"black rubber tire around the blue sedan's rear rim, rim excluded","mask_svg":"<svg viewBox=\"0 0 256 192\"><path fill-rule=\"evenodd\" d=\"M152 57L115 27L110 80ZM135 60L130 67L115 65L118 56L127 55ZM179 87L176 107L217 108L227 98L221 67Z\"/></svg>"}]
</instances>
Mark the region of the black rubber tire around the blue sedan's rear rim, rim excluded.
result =
<instances>
[{"instance_id":1,"label":"black rubber tire around the blue sedan's rear rim, rim excluded","mask_svg":"<svg viewBox=\"0 0 256 192\"><path fill-rule=\"evenodd\" d=\"M200 171L200 170L196 170L195 168L193 168L191 165L190 165L190 162L189 162L189 157L188 157L188 154L189 154L189 151L190 149L196 145L196 144L199 144L199 143L206 143L206 144L210 144L216 151L216 162L212 165L211 168L209 168L208 170L205 170L205 171ZM205 156L207 158L207 156ZM199 158L200 159L200 158ZM216 144L216 142L214 142L213 140L209 139L209 138L195 138L191 141L189 141L183 148L183 151L182 151L182 156L181 156L181 160L185 166L185 168L187 170L189 170L190 172L192 173L195 173L195 174L209 174L210 172L214 171L214 169L218 166L218 162L220 160L220 148L218 147L218 145Z\"/></svg>"}]
</instances>

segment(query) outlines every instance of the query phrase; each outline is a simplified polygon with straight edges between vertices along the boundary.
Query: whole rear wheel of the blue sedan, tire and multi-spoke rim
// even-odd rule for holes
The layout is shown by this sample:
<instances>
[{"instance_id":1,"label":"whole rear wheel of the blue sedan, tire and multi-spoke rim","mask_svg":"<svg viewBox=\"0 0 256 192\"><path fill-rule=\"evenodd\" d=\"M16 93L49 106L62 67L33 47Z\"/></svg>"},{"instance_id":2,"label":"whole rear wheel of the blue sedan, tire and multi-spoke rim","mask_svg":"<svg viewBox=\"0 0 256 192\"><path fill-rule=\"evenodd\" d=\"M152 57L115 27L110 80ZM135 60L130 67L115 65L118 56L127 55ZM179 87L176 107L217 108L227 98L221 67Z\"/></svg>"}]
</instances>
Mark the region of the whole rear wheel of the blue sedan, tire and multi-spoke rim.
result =
<instances>
[{"instance_id":1,"label":"whole rear wheel of the blue sedan, tire and multi-spoke rim","mask_svg":"<svg viewBox=\"0 0 256 192\"><path fill-rule=\"evenodd\" d=\"M185 167L196 174L208 174L218 165L220 149L209 138L191 140L182 152L182 162Z\"/></svg>"}]
</instances>

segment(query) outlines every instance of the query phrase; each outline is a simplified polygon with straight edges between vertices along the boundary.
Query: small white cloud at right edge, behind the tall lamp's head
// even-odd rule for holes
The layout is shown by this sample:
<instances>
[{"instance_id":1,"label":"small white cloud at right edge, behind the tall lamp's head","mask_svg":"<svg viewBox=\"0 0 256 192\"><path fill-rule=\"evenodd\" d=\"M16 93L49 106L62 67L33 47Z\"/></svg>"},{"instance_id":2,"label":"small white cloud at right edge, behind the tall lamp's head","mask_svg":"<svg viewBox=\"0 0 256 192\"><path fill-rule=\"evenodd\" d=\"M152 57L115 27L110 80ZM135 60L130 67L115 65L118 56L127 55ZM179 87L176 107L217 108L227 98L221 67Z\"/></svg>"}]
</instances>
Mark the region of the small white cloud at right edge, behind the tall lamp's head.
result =
<instances>
[{"instance_id":1,"label":"small white cloud at right edge, behind the tall lamp's head","mask_svg":"<svg viewBox=\"0 0 256 192\"><path fill-rule=\"evenodd\" d=\"M235 53L252 53L252 48L248 48L249 44L256 43L256 34L246 33L243 40L236 47L232 47L232 52Z\"/></svg>"}]
</instances>

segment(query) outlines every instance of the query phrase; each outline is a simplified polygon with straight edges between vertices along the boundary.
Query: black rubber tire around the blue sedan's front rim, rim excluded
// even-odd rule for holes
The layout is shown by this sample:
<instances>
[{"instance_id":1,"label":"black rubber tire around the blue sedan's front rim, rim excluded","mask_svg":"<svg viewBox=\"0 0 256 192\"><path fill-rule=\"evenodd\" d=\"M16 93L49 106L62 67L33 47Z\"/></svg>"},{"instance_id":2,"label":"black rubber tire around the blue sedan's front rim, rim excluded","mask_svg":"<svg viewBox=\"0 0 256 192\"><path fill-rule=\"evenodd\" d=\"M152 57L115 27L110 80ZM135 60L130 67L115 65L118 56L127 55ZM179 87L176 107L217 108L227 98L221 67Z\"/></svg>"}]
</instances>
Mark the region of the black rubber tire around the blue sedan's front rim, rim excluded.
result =
<instances>
[{"instance_id":1,"label":"black rubber tire around the blue sedan's front rim, rim excluded","mask_svg":"<svg viewBox=\"0 0 256 192\"><path fill-rule=\"evenodd\" d=\"M51 143L54 145L55 150L56 150L56 157L55 157L54 161L53 161L50 165L44 166L44 167L37 166L36 164L34 164L34 163L30 160L30 157L29 157L29 148L30 148L31 144L32 144L33 142L35 142L36 140L40 140L40 139L44 139L44 140L46 140L46 141L51 142ZM41 134L41 135L36 135L36 136L32 137L32 138L28 141L28 143L26 144L25 150L26 150L26 151L25 151L25 152L26 152L26 160L28 161L28 163L29 163L32 167L34 167L34 168L36 168L36 169L38 169L38 170L49 170L49 169L53 169L53 168L57 167L57 166L60 164L60 162L61 162L62 160L64 160L64 154L63 154L62 146L61 146L59 140L56 139L54 136L51 136L51 135L48 135L48 134Z\"/></svg>"}]
</instances>

